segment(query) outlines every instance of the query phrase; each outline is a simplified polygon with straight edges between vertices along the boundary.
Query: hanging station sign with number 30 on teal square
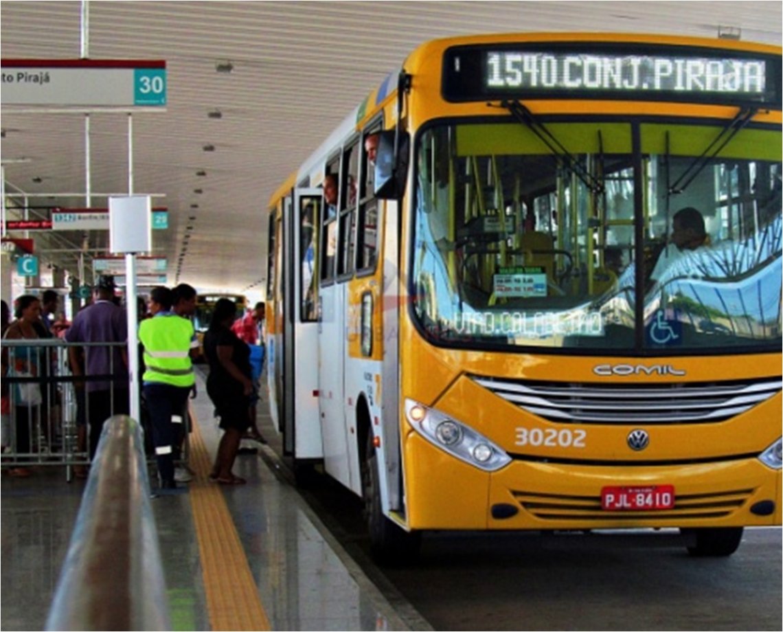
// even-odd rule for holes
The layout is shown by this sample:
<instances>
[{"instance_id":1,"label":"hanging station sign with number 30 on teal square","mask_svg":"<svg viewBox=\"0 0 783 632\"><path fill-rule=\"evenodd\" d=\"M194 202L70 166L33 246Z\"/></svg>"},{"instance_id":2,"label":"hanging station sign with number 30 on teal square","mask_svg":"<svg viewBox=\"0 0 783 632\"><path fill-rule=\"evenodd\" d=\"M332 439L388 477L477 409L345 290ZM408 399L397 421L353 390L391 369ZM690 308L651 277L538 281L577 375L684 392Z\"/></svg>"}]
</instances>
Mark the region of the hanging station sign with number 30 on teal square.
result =
<instances>
[{"instance_id":1,"label":"hanging station sign with number 30 on teal square","mask_svg":"<svg viewBox=\"0 0 783 632\"><path fill-rule=\"evenodd\" d=\"M161 107L163 60L2 60L3 105Z\"/></svg>"}]
</instances>

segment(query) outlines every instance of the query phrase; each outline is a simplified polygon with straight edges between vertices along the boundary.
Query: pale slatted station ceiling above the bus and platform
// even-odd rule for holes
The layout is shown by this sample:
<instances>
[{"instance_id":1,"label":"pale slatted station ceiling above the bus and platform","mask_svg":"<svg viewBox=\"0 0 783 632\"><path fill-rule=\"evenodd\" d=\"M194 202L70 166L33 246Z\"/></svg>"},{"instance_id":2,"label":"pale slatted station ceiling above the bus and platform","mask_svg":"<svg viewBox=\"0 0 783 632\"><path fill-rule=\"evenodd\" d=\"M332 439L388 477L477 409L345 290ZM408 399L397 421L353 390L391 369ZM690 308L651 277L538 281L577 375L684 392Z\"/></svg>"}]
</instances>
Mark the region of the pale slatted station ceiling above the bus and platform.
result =
<instances>
[{"instance_id":1,"label":"pale slatted station ceiling above the bus and platform","mask_svg":"<svg viewBox=\"0 0 783 632\"><path fill-rule=\"evenodd\" d=\"M168 283L261 294L270 195L420 43L510 31L716 37L731 27L744 40L781 45L781 7L779 0L2 0L3 60L165 60L168 79L164 111L135 112L131 125L124 112L93 112L88 135L81 111L3 103L5 192L10 204L28 207L105 208L106 194L128 193L132 182L133 193L152 194L153 206L168 209L152 253L168 258ZM220 118L209 116L216 111ZM92 258L107 246L106 231L30 236L44 263L71 273L83 252L88 280Z\"/></svg>"}]
</instances>

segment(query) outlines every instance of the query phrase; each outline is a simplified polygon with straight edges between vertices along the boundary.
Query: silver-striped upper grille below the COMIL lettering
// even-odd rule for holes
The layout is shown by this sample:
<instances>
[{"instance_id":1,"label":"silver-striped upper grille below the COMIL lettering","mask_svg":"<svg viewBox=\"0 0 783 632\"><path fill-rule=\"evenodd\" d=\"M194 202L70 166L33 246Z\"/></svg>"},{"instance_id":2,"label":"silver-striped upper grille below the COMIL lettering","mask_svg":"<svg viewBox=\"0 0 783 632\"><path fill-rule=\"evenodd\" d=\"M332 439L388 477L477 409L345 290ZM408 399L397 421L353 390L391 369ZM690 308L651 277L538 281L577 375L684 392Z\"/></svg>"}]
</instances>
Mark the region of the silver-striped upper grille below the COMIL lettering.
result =
<instances>
[{"instance_id":1,"label":"silver-striped upper grille below the COMIL lettering","mask_svg":"<svg viewBox=\"0 0 783 632\"><path fill-rule=\"evenodd\" d=\"M472 376L522 410L579 424L702 424L745 413L781 391L780 377L673 385L569 384Z\"/></svg>"}]
</instances>

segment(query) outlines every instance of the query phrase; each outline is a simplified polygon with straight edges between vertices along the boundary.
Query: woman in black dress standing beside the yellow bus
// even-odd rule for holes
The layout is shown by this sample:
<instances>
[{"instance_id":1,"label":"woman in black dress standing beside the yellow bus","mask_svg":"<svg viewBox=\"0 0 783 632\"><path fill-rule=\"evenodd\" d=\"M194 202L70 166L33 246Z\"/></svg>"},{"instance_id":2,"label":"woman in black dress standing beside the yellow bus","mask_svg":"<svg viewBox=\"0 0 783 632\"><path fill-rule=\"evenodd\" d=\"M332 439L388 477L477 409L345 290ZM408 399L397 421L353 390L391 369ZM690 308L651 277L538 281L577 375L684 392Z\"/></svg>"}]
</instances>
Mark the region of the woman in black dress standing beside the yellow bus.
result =
<instances>
[{"instance_id":1,"label":"woman in black dress standing beside the yellow bus","mask_svg":"<svg viewBox=\"0 0 783 632\"><path fill-rule=\"evenodd\" d=\"M215 404L224 431L210 478L222 485L243 485L245 479L233 475L234 459L240 441L249 427L253 395L250 348L231 330L236 304L227 298L215 303L215 312L204 335L204 355L209 363L207 394Z\"/></svg>"}]
</instances>

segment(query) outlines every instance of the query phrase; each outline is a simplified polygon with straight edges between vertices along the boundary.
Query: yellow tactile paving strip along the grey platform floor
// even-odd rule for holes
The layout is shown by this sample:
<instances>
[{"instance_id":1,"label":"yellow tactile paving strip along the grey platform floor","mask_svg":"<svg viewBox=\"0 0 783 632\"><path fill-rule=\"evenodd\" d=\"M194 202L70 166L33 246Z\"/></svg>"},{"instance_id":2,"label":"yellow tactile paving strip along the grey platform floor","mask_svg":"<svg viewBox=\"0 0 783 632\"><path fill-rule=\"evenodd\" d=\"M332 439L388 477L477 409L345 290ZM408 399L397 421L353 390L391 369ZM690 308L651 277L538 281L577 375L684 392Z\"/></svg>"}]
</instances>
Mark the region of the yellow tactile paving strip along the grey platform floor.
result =
<instances>
[{"instance_id":1,"label":"yellow tactile paving strip along the grey platform floor","mask_svg":"<svg viewBox=\"0 0 783 632\"><path fill-rule=\"evenodd\" d=\"M226 499L209 480L210 457L193 416L188 485L212 630L271 630Z\"/></svg>"}]
</instances>

